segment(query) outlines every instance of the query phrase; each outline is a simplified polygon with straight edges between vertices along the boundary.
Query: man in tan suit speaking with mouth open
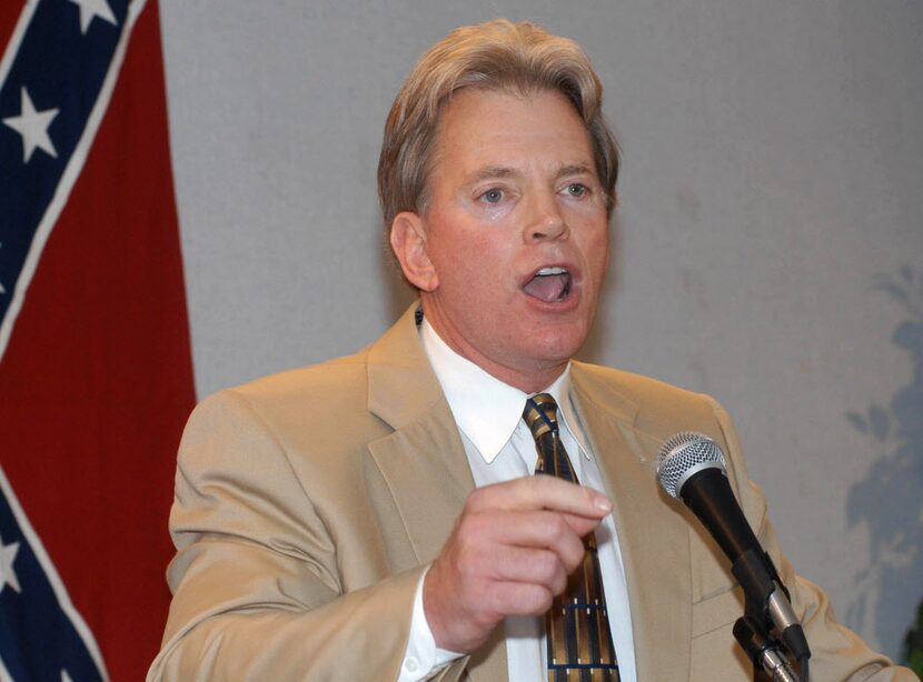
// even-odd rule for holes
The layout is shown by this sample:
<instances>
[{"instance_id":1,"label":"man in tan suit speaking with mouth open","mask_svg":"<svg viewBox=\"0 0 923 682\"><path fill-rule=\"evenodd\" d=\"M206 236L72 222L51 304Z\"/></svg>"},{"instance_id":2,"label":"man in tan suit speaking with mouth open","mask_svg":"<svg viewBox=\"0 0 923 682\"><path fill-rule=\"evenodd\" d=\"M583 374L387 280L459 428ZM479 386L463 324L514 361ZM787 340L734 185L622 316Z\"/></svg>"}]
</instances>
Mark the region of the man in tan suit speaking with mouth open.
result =
<instances>
[{"instance_id":1,"label":"man in tan suit speaking with mouth open","mask_svg":"<svg viewBox=\"0 0 923 682\"><path fill-rule=\"evenodd\" d=\"M615 205L601 106L582 50L528 23L459 29L415 67L379 193L419 302L354 357L197 408L150 679L750 679L725 561L656 484L684 430L727 453L814 679L913 679L794 575L714 401L570 361ZM575 589L595 596L568 611Z\"/></svg>"}]
</instances>

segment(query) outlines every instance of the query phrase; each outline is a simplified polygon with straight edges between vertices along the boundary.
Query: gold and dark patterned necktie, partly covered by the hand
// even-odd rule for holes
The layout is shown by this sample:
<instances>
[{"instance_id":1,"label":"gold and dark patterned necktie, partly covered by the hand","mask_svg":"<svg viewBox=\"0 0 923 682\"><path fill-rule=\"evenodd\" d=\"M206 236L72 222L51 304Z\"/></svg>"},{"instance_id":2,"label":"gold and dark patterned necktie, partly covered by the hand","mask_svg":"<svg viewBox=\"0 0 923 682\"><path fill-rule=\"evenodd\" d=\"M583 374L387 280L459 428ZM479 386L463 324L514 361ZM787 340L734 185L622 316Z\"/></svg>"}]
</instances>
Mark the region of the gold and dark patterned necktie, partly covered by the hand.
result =
<instances>
[{"instance_id":1,"label":"gold and dark patterned necktie, partly covered by the hand","mask_svg":"<svg viewBox=\"0 0 923 682\"><path fill-rule=\"evenodd\" d=\"M523 419L538 450L535 473L579 483L560 442L555 399L547 393L529 398ZM583 564L545 614L548 682L618 682L595 533L584 545Z\"/></svg>"}]
</instances>

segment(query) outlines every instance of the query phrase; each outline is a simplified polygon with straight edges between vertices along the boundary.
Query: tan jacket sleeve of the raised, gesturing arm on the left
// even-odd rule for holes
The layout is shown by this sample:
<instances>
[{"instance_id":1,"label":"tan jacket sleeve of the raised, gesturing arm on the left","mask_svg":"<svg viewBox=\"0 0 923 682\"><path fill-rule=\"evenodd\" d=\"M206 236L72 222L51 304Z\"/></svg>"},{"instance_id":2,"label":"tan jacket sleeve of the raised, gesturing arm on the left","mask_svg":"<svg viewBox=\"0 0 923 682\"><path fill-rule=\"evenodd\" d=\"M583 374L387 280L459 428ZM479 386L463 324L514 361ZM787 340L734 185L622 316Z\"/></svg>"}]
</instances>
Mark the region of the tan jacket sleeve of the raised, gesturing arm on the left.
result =
<instances>
[{"instance_id":1,"label":"tan jacket sleeve of the raised, gesturing arm on the left","mask_svg":"<svg viewBox=\"0 0 923 682\"><path fill-rule=\"evenodd\" d=\"M270 429L226 391L179 450L173 592L148 680L395 680L424 568L346 591L336 541Z\"/></svg>"}]
</instances>

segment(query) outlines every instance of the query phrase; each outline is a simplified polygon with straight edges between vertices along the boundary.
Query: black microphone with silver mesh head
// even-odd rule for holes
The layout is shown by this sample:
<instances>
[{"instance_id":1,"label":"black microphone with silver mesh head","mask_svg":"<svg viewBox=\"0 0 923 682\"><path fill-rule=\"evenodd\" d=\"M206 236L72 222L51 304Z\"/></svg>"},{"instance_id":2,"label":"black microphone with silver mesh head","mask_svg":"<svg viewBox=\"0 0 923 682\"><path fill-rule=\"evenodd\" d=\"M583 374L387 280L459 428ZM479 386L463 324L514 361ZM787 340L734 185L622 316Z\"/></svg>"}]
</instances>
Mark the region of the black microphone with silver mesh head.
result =
<instances>
[{"instance_id":1,"label":"black microphone with silver mesh head","mask_svg":"<svg viewBox=\"0 0 923 682\"><path fill-rule=\"evenodd\" d=\"M811 650L804 631L770 555L734 498L721 448L701 433L677 433L661 450L657 478L669 497L693 511L731 561L731 572L746 595L747 615L771 622L794 659L806 662Z\"/></svg>"}]
</instances>

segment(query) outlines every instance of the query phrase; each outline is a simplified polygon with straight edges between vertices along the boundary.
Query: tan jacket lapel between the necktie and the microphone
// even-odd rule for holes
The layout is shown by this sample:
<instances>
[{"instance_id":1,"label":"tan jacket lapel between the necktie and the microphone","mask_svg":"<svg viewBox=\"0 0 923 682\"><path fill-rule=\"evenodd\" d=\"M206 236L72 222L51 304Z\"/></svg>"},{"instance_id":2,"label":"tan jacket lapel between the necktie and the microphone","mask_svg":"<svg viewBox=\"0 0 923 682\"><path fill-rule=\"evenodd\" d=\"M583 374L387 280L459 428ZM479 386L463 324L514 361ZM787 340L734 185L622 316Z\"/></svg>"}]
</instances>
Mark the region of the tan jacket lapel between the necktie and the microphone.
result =
<instances>
[{"instance_id":1,"label":"tan jacket lapel between the necktie and the microphone","mask_svg":"<svg viewBox=\"0 0 923 682\"><path fill-rule=\"evenodd\" d=\"M614 390L609 379L574 363L572 381L577 411L614 503L637 679L688 679L688 525L657 484L662 443L634 428L637 408Z\"/></svg>"}]
</instances>

